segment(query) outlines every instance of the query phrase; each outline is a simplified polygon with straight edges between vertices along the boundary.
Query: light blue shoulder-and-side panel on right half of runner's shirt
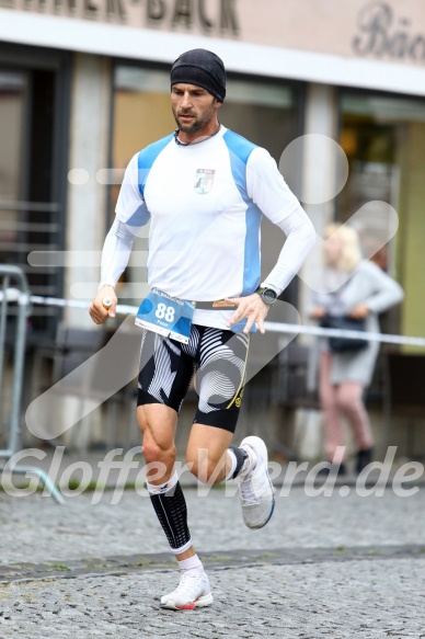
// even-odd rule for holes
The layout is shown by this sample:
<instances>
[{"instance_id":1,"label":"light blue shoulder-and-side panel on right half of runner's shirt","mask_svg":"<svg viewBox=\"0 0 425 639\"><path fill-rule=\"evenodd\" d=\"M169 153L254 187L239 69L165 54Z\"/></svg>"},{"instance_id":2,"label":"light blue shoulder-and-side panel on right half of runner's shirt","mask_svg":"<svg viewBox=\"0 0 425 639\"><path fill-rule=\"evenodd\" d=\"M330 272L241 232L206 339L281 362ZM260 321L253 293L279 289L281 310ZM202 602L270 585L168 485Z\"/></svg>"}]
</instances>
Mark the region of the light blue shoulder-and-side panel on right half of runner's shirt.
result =
<instances>
[{"instance_id":1,"label":"light blue shoulder-and-side panel on right half of runner's shirt","mask_svg":"<svg viewBox=\"0 0 425 639\"><path fill-rule=\"evenodd\" d=\"M246 204L245 212L245 246L243 263L243 283L241 295L251 295L256 290L261 279L260 260L260 225L262 212L249 197L246 190L246 162L252 151L257 148L242 136L227 130L222 136L229 149L230 166L234 183Z\"/></svg>"}]
</instances>

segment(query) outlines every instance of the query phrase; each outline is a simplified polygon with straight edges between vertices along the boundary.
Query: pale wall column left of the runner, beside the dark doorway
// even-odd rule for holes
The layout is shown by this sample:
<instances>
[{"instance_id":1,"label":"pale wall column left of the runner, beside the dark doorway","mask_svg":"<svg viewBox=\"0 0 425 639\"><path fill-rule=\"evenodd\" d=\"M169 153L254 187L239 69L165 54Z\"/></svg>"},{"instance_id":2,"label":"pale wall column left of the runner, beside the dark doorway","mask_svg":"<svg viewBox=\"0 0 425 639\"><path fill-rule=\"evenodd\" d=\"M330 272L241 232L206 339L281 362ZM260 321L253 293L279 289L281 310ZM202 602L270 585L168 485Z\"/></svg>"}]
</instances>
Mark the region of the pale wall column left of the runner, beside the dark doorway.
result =
<instances>
[{"instance_id":1,"label":"pale wall column left of the runner, beside the dark doorway","mask_svg":"<svg viewBox=\"0 0 425 639\"><path fill-rule=\"evenodd\" d=\"M107 186L97 183L96 172L108 161L111 73L108 58L76 54L66 228L66 250L76 255L68 260L64 290L69 299L92 299L100 281L100 259L82 264L79 252L100 251L105 238ZM84 310L67 309L65 318L68 324L93 327Z\"/></svg>"}]
</instances>

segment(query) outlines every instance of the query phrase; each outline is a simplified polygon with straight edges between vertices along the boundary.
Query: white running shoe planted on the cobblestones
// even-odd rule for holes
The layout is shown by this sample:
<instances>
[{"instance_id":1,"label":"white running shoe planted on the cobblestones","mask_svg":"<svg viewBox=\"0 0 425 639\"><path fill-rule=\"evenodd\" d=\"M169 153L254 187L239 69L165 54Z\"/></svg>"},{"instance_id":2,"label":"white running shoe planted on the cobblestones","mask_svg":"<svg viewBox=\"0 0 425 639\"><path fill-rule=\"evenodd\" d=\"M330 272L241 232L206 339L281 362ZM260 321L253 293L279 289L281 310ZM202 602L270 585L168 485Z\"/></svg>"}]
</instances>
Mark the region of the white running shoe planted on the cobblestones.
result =
<instances>
[{"instance_id":1,"label":"white running shoe planted on the cobblestones","mask_svg":"<svg viewBox=\"0 0 425 639\"><path fill-rule=\"evenodd\" d=\"M161 597L160 607L171 611L193 611L210 606L213 602L211 589L205 572L195 575L182 573L177 587Z\"/></svg>"}]
</instances>

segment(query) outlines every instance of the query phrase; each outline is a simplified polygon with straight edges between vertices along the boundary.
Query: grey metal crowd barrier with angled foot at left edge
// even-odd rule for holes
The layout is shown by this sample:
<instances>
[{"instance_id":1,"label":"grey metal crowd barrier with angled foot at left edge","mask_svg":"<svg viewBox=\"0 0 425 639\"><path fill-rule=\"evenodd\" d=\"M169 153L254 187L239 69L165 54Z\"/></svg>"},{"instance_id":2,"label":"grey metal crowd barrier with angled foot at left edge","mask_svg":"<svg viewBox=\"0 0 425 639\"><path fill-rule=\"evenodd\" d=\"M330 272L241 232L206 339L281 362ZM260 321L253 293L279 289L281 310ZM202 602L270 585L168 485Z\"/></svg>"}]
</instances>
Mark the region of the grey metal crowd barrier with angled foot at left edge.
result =
<instances>
[{"instance_id":1,"label":"grey metal crowd barrier with angled foot at left edge","mask_svg":"<svg viewBox=\"0 0 425 639\"><path fill-rule=\"evenodd\" d=\"M25 360L25 341L26 341L26 318L31 312L31 297L27 281L24 272L18 266L5 266L0 264L0 277L3 279L1 290L1 311L0 311L0 392L4 392L4 353L8 323L8 304L10 300L16 301L16 330L14 335L13 353L13 378L12 396L9 418L3 419L3 402L1 402L0 426L5 423L8 426L8 447L0 449L0 458L9 460L21 446L21 400L22 400L22 380ZM14 282L15 295L10 295L13 290L10 286ZM0 466L0 470L10 471L7 464ZM42 483L48 489L51 497L59 504L64 504L64 498L58 488L51 482L48 475L36 467L15 466L13 472L26 475L31 472L36 475Z\"/></svg>"}]
</instances>

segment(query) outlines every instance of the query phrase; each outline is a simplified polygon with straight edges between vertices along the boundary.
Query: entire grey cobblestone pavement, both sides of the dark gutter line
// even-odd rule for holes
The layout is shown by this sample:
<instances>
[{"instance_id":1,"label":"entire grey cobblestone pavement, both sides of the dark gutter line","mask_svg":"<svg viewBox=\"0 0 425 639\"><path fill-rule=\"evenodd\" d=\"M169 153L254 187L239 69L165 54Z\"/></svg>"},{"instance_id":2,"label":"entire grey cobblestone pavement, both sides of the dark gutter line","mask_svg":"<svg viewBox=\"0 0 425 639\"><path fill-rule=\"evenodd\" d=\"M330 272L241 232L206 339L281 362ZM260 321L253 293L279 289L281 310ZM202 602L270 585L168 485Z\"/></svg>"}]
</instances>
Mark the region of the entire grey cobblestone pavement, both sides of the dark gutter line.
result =
<instances>
[{"instance_id":1,"label":"entire grey cobblestone pavement, both sides of the dark gutter line","mask_svg":"<svg viewBox=\"0 0 425 639\"><path fill-rule=\"evenodd\" d=\"M243 526L237 495L185 492L215 604L184 613L158 608L177 573L147 497L0 494L0 637L425 638L423 487L278 490L262 530Z\"/></svg>"}]
</instances>

